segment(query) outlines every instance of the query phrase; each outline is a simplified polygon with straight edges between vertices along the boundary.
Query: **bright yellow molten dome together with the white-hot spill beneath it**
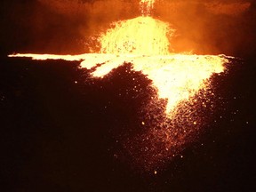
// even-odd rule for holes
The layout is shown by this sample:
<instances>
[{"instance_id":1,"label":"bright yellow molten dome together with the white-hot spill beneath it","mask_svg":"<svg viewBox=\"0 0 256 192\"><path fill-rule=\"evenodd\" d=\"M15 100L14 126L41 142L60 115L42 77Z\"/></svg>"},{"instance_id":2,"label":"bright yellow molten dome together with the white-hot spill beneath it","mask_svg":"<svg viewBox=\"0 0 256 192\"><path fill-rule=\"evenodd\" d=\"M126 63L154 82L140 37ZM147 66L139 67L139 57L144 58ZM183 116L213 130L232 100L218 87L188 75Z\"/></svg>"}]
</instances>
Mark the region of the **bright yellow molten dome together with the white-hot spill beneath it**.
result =
<instances>
[{"instance_id":1,"label":"bright yellow molten dome together with the white-hot spill beneath it","mask_svg":"<svg viewBox=\"0 0 256 192\"><path fill-rule=\"evenodd\" d=\"M152 80L160 99L167 99L166 113L182 100L189 100L207 86L213 73L224 71L224 56L174 54L169 39L174 30L161 20L141 16L115 23L99 38L98 53L81 55L13 54L10 57L32 57L34 60L82 60L82 68L95 68L92 76L104 77L124 62L132 63Z\"/></svg>"}]
</instances>

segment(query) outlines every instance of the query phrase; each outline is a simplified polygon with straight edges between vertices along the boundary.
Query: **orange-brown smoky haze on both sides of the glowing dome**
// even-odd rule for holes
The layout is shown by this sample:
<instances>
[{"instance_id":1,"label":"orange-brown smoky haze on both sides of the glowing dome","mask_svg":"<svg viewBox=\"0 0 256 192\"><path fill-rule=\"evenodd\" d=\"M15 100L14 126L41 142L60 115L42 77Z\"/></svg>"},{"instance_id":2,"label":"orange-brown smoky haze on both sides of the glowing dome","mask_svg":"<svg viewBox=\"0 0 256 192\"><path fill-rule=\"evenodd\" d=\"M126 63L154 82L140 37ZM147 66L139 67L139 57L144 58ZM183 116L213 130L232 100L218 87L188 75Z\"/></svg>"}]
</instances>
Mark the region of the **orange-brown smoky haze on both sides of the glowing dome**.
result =
<instances>
[{"instance_id":1,"label":"orange-brown smoky haze on both sides of the glowing dome","mask_svg":"<svg viewBox=\"0 0 256 192\"><path fill-rule=\"evenodd\" d=\"M12 0L4 3L0 43L8 52L89 52L89 45L94 46L95 38L112 22L138 17L139 3ZM153 17L176 29L171 39L173 52L246 57L255 52L255 12L255 1L249 0L158 0Z\"/></svg>"}]
</instances>

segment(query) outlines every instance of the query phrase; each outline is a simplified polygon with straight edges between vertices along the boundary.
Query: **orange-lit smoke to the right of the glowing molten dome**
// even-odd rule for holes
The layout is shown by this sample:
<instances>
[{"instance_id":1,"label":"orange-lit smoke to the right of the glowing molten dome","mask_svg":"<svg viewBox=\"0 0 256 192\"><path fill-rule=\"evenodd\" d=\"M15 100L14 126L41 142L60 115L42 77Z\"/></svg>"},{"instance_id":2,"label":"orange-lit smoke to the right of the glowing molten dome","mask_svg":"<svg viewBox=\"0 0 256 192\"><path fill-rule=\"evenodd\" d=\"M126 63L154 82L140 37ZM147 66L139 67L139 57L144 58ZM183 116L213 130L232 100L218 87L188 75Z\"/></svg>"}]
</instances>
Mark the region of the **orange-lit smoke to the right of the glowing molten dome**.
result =
<instances>
[{"instance_id":1,"label":"orange-lit smoke to the right of the glowing molten dome","mask_svg":"<svg viewBox=\"0 0 256 192\"><path fill-rule=\"evenodd\" d=\"M160 1L156 15L176 29L175 52L242 56L250 52L243 50L244 45L255 38L250 31L255 19L249 13L252 9L248 1Z\"/></svg>"}]
</instances>

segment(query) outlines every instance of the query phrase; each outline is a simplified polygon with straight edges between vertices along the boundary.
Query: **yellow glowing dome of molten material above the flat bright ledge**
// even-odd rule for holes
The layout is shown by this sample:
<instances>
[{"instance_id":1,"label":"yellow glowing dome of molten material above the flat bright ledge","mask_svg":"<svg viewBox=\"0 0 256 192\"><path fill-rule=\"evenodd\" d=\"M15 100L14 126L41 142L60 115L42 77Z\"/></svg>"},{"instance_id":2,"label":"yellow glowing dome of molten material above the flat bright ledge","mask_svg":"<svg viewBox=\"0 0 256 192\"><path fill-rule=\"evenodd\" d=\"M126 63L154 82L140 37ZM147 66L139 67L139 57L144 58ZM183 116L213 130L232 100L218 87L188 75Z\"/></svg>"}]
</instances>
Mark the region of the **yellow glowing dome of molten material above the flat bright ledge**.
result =
<instances>
[{"instance_id":1,"label":"yellow glowing dome of molten material above the flat bright ledge","mask_svg":"<svg viewBox=\"0 0 256 192\"><path fill-rule=\"evenodd\" d=\"M168 24L151 17L138 17L116 23L100 36L101 52L112 54L166 55L172 36Z\"/></svg>"}]
</instances>

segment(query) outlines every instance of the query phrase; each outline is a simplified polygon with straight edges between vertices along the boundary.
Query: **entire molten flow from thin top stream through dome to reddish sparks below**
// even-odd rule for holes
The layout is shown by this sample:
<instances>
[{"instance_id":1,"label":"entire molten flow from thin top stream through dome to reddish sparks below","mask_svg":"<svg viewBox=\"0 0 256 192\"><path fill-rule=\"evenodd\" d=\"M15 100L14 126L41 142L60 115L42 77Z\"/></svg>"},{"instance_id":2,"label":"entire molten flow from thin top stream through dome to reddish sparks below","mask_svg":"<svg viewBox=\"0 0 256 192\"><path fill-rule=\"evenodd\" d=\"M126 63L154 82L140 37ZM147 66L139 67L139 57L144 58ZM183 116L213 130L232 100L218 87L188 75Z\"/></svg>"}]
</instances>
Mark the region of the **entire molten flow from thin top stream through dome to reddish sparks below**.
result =
<instances>
[{"instance_id":1,"label":"entire molten flow from thin top stream through dome to reddish sparks below","mask_svg":"<svg viewBox=\"0 0 256 192\"><path fill-rule=\"evenodd\" d=\"M155 164L166 156L179 153L184 143L188 142L188 138L199 130L202 124L198 120L199 117L193 115L195 110L189 103L199 102L195 96L202 90L206 92L205 96L209 96L210 77L212 74L223 72L225 69L223 65L228 62L228 57L224 55L171 52L170 39L174 30L164 21L150 17L154 3L153 0L141 0L142 16L132 20L118 21L114 23L114 28L109 28L106 33L101 34L100 52L81 55L9 55L10 57L31 57L34 60L81 60L82 68L91 69L92 76L102 78L114 68L124 63L131 63L133 70L140 71L152 80L151 85L157 92L157 97L152 97L153 102L166 101L164 115L161 115L164 117L159 117L159 114L154 115L156 118L154 123L154 116L150 115L151 125L143 122L143 125L148 126L147 131L142 136L138 136L139 139L133 140L133 143L140 146L138 149L140 152L134 152L133 147L132 149L127 147L132 156L140 159L138 161L148 162L148 164ZM202 105L204 106L205 103ZM148 104L149 107L150 111L154 111L154 108L159 106L151 103ZM155 125L152 126L152 124ZM127 140L124 145L131 146L132 139ZM160 150L156 146L162 146L163 149ZM137 153L138 156L135 155Z\"/></svg>"}]
</instances>

